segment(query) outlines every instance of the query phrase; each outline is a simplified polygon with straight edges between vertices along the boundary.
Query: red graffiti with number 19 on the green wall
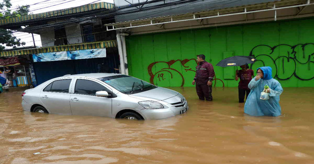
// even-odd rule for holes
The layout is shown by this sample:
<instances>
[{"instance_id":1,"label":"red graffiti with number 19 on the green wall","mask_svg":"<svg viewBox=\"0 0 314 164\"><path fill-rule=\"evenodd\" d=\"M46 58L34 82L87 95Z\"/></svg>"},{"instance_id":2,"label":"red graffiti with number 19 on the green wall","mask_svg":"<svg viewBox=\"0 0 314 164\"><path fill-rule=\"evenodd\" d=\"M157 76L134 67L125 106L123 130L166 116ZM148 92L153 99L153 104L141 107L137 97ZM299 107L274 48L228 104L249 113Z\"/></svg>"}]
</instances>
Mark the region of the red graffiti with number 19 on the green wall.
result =
<instances>
[{"instance_id":1,"label":"red graffiti with number 19 on the green wall","mask_svg":"<svg viewBox=\"0 0 314 164\"><path fill-rule=\"evenodd\" d=\"M148 66L148 73L150 75L150 83L155 84L155 80L158 82L169 80L167 79L168 75L169 78L172 80L180 81L181 87L184 85L184 76L183 71L191 74L191 77L187 77L189 81L193 79L195 76L195 67L197 65L197 61L195 59L184 59L184 60L170 60L168 62L154 62ZM168 74L168 75L166 75ZM223 87L225 86L224 82L221 79L217 79L214 77L213 85L216 86L216 82L221 81Z\"/></svg>"}]
</instances>

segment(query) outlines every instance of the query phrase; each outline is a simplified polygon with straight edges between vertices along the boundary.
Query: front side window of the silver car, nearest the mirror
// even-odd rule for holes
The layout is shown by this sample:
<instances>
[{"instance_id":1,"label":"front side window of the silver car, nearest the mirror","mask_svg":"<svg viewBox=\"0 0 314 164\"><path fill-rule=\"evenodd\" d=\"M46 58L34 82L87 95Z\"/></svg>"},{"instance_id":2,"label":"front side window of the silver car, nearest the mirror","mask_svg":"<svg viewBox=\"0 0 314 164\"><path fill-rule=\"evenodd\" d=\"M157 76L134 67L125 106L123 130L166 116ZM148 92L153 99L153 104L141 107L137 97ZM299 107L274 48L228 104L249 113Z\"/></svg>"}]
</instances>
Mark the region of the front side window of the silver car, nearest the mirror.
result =
<instances>
[{"instance_id":1,"label":"front side window of the silver car, nearest the mirror","mask_svg":"<svg viewBox=\"0 0 314 164\"><path fill-rule=\"evenodd\" d=\"M96 95L96 92L98 91L106 91L108 94L111 92L106 89L103 85L90 81L90 80L83 80L78 79L75 84L75 94L88 94L88 95Z\"/></svg>"}]
</instances>

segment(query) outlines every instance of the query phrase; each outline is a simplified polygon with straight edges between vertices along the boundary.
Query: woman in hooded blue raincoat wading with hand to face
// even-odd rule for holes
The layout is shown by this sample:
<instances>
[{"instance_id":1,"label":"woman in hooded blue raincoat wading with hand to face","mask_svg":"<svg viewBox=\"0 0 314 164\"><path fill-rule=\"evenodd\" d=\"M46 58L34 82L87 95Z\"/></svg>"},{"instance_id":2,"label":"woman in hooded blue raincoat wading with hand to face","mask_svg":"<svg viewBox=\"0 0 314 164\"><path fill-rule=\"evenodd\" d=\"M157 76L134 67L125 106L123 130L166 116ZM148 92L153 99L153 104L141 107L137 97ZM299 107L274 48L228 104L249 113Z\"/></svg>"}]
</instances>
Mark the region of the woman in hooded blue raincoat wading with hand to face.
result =
<instances>
[{"instance_id":1,"label":"woman in hooded blue raincoat wading with hand to face","mask_svg":"<svg viewBox=\"0 0 314 164\"><path fill-rule=\"evenodd\" d=\"M280 83L272 77L270 67L261 67L257 69L255 76L249 83L248 87L251 93L247 97L244 105L244 113L251 116L280 116L281 107L279 105L279 95L283 92ZM266 90L269 99L260 99L264 86L268 85Z\"/></svg>"}]
</instances>

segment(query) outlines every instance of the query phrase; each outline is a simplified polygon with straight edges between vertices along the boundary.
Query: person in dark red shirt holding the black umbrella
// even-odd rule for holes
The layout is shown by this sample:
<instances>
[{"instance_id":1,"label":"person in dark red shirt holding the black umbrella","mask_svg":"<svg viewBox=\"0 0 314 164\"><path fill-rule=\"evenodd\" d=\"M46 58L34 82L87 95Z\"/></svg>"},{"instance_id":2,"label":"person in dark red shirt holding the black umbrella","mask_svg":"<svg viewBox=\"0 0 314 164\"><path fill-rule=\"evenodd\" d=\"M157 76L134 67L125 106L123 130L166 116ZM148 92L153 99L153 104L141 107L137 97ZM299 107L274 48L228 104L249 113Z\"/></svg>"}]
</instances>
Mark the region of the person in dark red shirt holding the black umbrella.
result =
<instances>
[{"instance_id":1,"label":"person in dark red shirt holding the black umbrella","mask_svg":"<svg viewBox=\"0 0 314 164\"><path fill-rule=\"evenodd\" d=\"M249 65L242 65L240 66L242 70L235 71L235 80L237 81L240 78L238 91L239 91L239 103L244 102L244 97L246 93L247 96L250 94L251 90L249 89L248 85L254 77L254 71L249 69Z\"/></svg>"}]
</instances>

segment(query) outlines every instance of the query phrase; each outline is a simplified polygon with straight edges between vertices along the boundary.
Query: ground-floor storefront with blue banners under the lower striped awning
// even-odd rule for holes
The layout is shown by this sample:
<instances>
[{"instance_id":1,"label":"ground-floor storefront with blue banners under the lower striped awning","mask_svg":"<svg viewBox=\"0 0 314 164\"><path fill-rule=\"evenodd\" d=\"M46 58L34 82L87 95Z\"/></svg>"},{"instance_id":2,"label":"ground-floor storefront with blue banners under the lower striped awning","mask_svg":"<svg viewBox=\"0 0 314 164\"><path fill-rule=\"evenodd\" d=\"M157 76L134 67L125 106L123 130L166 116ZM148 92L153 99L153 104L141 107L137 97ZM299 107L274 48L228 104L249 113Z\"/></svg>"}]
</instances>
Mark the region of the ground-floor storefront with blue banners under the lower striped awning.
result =
<instances>
[{"instance_id":1,"label":"ground-floor storefront with blue banners under the lower striped awning","mask_svg":"<svg viewBox=\"0 0 314 164\"><path fill-rule=\"evenodd\" d=\"M16 63L14 66L17 86L32 84L35 87L55 77L96 73L104 67L107 72L119 73L116 45L116 41L94 42L6 51L0 52L0 56L6 60L25 58L23 64Z\"/></svg>"}]
</instances>

